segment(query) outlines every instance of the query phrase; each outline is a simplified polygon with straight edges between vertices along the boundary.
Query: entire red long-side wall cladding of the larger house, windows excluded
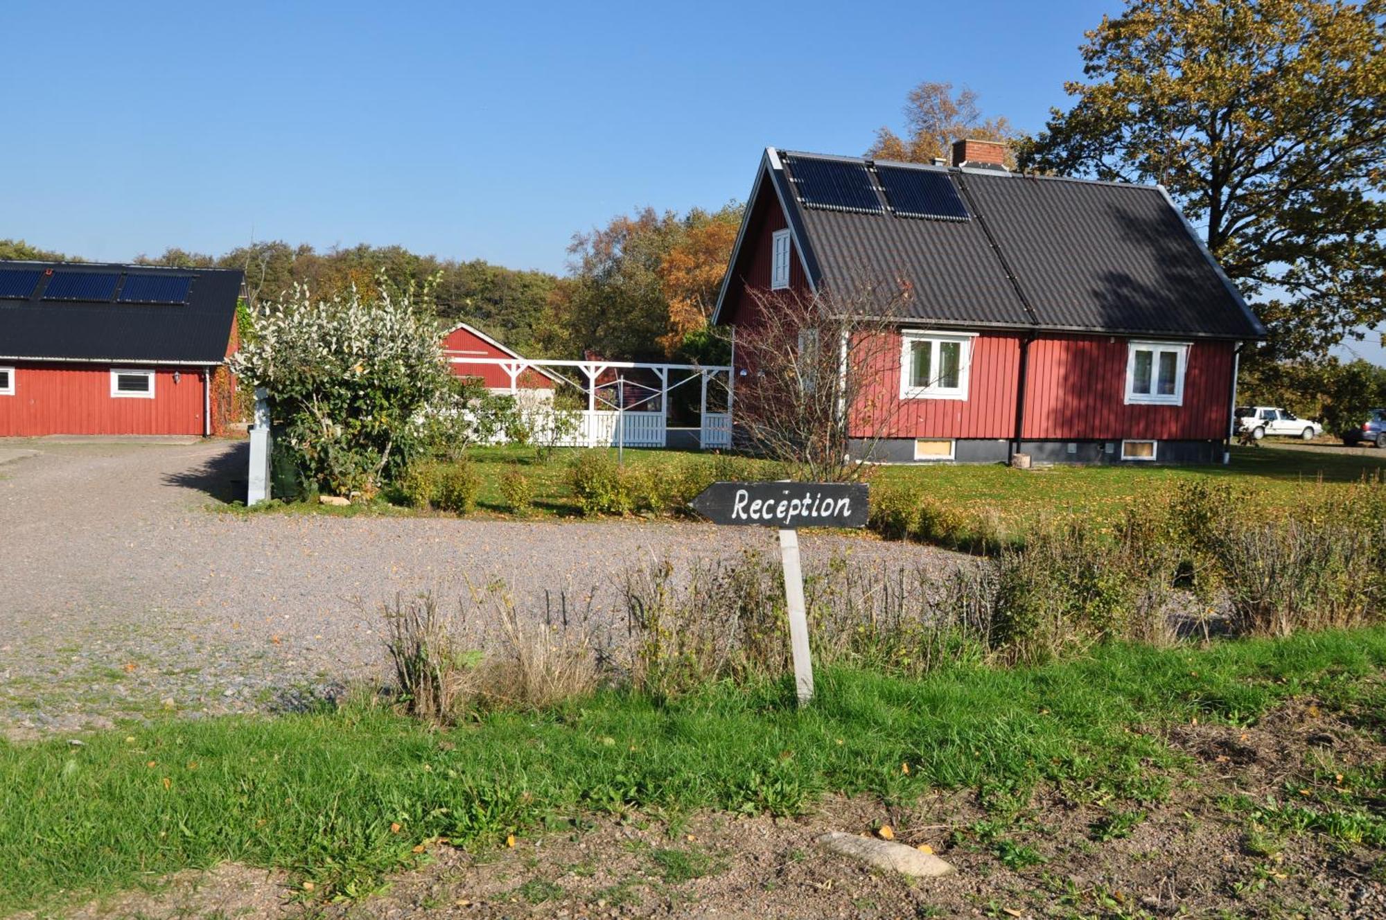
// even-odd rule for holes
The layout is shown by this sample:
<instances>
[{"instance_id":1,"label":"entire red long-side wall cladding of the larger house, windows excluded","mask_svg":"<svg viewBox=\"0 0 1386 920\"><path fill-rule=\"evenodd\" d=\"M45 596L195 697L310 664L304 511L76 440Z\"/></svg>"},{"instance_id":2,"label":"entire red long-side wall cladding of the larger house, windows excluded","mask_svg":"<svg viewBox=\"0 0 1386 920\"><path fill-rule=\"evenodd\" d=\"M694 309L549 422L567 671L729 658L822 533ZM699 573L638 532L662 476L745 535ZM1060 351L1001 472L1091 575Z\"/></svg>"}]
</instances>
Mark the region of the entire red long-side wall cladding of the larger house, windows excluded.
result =
<instances>
[{"instance_id":1,"label":"entire red long-side wall cladding of the larger house, windows excluded","mask_svg":"<svg viewBox=\"0 0 1386 920\"><path fill-rule=\"evenodd\" d=\"M1013 333L977 335L967 399L900 399L900 335L887 346L858 345L858 360L877 366L854 412L852 434L876 431L872 410L884 406L888 438L1013 438L1020 341ZM1217 441L1227 435L1232 344L1193 342L1182 406L1125 405L1130 339L1044 335L1030 345L1026 385L1027 441ZM893 402L894 400L894 402Z\"/></svg>"}]
</instances>

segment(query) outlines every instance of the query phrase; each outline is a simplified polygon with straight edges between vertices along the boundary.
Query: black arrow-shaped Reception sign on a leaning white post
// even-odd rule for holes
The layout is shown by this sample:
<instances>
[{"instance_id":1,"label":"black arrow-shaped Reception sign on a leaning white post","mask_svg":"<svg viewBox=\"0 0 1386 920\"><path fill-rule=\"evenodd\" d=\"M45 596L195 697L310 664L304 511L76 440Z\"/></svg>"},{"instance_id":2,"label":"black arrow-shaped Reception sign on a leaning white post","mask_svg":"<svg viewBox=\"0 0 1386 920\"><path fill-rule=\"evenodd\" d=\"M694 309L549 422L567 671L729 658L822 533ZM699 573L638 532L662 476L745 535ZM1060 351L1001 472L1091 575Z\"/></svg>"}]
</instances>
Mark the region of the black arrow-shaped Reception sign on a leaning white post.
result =
<instances>
[{"instance_id":1,"label":"black arrow-shaped Reception sign on a leaning white post","mask_svg":"<svg viewBox=\"0 0 1386 920\"><path fill-rule=\"evenodd\" d=\"M693 510L714 524L779 529L794 690L800 705L814 698L814 664L808 651L798 528L866 527L866 485L861 482L714 482L693 499Z\"/></svg>"}]
</instances>

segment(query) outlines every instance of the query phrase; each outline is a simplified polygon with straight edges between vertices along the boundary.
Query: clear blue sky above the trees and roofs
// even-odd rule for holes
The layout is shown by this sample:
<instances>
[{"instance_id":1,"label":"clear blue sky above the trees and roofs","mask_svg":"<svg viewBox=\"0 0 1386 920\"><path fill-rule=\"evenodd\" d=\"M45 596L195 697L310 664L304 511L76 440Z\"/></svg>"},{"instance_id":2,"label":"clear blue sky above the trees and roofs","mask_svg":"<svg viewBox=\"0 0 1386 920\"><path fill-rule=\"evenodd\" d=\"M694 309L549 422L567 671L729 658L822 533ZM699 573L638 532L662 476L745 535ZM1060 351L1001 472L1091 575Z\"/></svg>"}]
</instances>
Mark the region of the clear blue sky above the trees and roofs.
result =
<instances>
[{"instance_id":1,"label":"clear blue sky above the trees and roofs","mask_svg":"<svg viewBox=\"0 0 1386 920\"><path fill-rule=\"evenodd\" d=\"M1037 129L1119 3L585 7L11 0L0 237L557 272L615 213L743 198L766 144L861 152L924 79Z\"/></svg>"}]
</instances>

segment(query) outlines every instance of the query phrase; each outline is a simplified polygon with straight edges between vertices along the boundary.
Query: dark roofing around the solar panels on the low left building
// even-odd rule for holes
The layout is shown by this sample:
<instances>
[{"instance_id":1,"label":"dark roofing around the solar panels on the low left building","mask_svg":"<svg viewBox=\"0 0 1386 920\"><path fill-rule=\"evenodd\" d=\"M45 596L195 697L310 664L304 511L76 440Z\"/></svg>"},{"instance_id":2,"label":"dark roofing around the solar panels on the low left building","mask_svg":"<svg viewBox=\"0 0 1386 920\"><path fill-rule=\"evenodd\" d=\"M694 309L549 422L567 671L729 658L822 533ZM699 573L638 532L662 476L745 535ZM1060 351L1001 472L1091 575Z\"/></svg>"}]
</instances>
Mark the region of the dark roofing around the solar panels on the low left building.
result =
<instances>
[{"instance_id":1,"label":"dark roofing around the solar panels on the low left building","mask_svg":"<svg viewBox=\"0 0 1386 920\"><path fill-rule=\"evenodd\" d=\"M0 298L0 359L186 362L215 364L225 359L241 292L233 269L166 269L143 265L72 262L0 262L7 269L61 273L191 276L184 303L130 303L118 299L43 299L43 274L28 299Z\"/></svg>"}]
</instances>

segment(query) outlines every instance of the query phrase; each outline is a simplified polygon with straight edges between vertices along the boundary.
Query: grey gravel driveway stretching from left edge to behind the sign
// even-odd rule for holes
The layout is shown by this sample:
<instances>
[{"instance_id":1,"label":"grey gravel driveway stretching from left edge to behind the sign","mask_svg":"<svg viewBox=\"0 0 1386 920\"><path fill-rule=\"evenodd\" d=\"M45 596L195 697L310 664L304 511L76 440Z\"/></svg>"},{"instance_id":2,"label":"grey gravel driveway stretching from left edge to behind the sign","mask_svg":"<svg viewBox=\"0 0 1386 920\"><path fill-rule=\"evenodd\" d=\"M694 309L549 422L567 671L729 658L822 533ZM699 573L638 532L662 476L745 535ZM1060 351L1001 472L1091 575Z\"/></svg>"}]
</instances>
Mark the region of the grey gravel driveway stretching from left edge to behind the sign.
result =
<instances>
[{"instance_id":1,"label":"grey gravel driveway stretching from left edge to behind the sign","mask_svg":"<svg viewBox=\"0 0 1386 920\"><path fill-rule=\"evenodd\" d=\"M378 610L396 593L455 599L503 579L521 604L596 590L608 611L613 576L640 560L773 547L768 531L687 522L218 513L244 443L0 450L0 732L17 737L292 704L378 676ZM809 560L954 564L869 538L802 542Z\"/></svg>"}]
</instances>

